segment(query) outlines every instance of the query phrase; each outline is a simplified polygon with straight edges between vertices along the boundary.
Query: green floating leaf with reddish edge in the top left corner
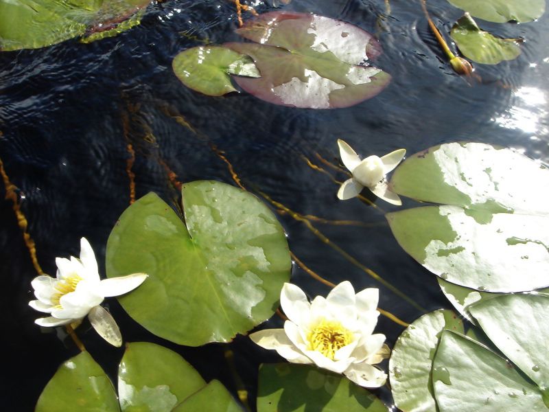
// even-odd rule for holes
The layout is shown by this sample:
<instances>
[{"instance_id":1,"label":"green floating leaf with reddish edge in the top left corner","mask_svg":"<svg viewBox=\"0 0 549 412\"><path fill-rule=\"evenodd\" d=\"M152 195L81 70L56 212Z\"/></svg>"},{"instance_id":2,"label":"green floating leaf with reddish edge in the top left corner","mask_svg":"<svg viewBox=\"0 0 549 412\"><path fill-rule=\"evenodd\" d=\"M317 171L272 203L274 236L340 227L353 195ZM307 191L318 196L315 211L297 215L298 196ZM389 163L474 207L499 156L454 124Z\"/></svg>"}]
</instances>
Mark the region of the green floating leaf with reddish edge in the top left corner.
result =
<instances>
[{"instance_id":1,"label":"green floating leaf with reddish edge in the top left corner","mask_svg":"<svg viewBox=\"0 0 549 412\"><path fill-rule=\"evenodd\" d=\"M35 49L113 29L148 3L150 0L0 0L0 50Z\"/></svg>"}]
</instances>

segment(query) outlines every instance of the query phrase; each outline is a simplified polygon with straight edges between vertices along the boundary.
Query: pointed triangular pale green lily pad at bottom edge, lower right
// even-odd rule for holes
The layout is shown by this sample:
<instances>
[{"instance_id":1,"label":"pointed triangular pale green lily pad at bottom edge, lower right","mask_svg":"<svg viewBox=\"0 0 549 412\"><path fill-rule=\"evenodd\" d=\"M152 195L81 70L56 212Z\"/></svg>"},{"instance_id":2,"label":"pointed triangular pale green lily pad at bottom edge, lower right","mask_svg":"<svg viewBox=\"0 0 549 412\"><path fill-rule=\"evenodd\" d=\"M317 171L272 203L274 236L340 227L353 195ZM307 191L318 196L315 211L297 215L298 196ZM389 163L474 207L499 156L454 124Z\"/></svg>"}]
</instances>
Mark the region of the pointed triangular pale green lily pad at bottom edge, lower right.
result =
<instances>
[{"instance_id":1,"label":"pointed triangular pale green lily pad at bottom edge, lower right","mask_svg":"<svg viewBox=\"0 0 549 412\"><path fill-rule=\"evenodd\" d=\"M441 412L547 411L539 389L513 365L454 332L442 333L433 387Z\"/></svg>"}]
</instances>

